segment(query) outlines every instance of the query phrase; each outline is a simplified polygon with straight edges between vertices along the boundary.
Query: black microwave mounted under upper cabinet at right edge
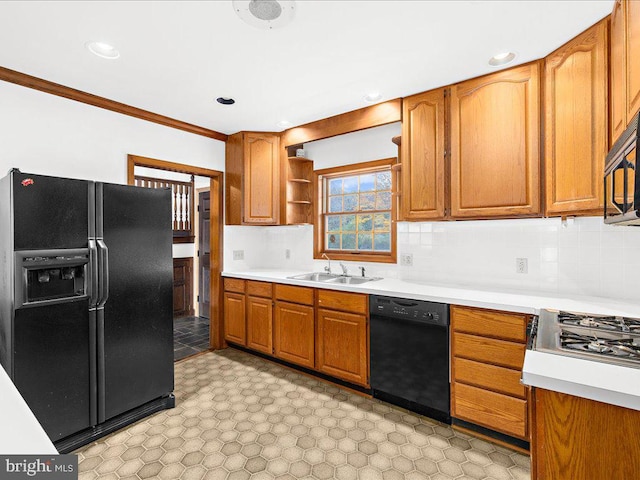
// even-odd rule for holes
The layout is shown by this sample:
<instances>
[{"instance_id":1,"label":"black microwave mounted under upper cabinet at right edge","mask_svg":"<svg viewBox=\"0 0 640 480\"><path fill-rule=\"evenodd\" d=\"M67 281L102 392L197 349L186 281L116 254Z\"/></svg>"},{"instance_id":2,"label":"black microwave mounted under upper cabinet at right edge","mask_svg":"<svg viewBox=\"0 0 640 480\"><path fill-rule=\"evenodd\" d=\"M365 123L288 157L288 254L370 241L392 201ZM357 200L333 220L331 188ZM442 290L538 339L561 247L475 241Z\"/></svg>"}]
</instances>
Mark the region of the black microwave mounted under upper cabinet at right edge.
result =
<instances>
[{"instance_id":1,"label":"black microwave mounted under upper cabinet at right edge","mask_svg":"<svg viewBox=\"0 0 640 480\"><path fill-rule=\"evenodd\" d=\"M640 226L640 174L637 151L640 144L638 116L613 145L604 167L604 223Z\"/></svg>"}]
</instances>

